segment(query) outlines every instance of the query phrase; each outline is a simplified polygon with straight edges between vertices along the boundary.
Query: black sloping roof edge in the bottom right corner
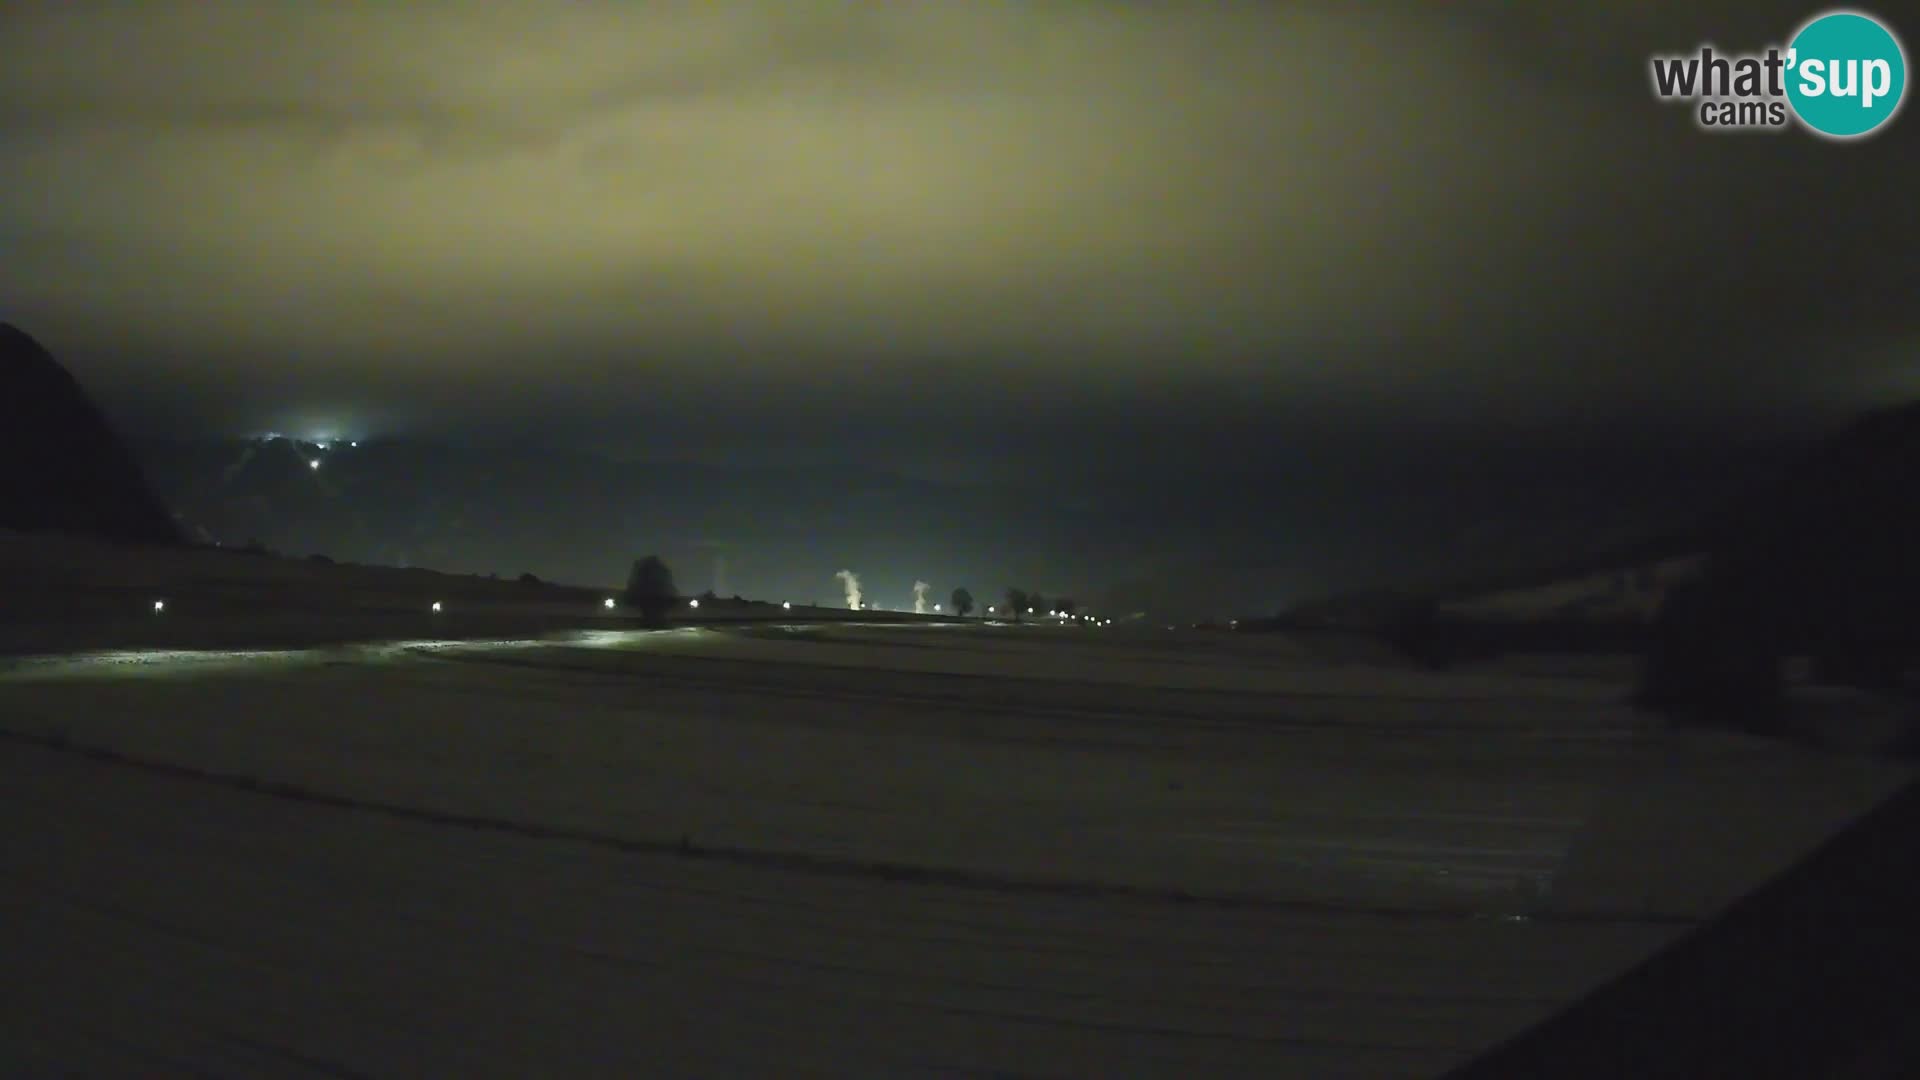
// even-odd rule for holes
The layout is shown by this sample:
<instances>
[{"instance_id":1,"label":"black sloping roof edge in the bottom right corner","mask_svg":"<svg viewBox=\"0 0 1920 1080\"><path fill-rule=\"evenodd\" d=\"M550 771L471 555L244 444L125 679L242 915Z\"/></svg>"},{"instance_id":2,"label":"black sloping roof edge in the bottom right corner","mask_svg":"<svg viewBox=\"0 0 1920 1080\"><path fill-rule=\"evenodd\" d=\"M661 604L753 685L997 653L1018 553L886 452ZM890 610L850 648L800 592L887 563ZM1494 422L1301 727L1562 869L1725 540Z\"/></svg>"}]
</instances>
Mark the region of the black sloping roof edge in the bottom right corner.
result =
<instances>
[{"instance_id":1,"label":"black sloping roof edge in the bottom right corner","mask_svg":"<svg viewBox=\"0 0 1920 1080\"><path fill-rule=\"evenodd\" d=\"M1920 1076L1920 784L1448 1080Z\"/></svg>"}]
</instances>

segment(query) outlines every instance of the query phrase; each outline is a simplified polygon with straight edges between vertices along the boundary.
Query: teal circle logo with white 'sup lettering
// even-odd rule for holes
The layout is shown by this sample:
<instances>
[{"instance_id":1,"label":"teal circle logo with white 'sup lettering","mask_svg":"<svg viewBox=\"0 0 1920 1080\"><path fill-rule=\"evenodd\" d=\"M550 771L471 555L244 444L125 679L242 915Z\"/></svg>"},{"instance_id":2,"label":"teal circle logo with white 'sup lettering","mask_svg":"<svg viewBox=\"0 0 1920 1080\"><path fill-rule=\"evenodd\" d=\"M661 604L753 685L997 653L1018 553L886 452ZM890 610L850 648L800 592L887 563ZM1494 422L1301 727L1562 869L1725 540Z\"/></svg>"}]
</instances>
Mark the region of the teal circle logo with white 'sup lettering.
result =
<instances>
[{"instance_id":1,"label":"teal circle logo with white 'sup lettering","mask_svg":"<svg viewBox=\"0 0 1920 1080\"><path fill-rule=\"evenodd\" d=\"M1880 19L1828 12L1788 42L1788 104L1828 138L1884 127L1907 96L1907 52Z\"/></svg>"}]
</instances>

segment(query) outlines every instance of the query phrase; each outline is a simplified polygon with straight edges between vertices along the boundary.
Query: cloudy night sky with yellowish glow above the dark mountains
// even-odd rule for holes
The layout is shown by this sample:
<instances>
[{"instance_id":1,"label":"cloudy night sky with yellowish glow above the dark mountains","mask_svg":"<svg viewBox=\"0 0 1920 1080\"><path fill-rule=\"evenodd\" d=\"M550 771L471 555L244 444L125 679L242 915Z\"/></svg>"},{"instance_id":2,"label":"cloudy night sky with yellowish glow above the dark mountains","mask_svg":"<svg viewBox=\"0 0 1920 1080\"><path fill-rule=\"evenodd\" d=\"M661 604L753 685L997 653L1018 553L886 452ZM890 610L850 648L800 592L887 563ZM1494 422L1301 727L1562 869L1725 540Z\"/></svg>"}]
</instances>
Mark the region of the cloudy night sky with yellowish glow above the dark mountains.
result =
<instances>
[{"instance_id":1,"label":"cloudy night sky with yellowish glow above the dark mountains","mask_svg":"<svg viewBox=\"0 0 1920 1080\"><path fill-rule=\"evenodd\" d=\"M1668 8L10 4L0 319L140 432L1062 503L1920 396L1920 119L1705 135L1647 56L1812 10Z\"/></svg>"}]
</instances>

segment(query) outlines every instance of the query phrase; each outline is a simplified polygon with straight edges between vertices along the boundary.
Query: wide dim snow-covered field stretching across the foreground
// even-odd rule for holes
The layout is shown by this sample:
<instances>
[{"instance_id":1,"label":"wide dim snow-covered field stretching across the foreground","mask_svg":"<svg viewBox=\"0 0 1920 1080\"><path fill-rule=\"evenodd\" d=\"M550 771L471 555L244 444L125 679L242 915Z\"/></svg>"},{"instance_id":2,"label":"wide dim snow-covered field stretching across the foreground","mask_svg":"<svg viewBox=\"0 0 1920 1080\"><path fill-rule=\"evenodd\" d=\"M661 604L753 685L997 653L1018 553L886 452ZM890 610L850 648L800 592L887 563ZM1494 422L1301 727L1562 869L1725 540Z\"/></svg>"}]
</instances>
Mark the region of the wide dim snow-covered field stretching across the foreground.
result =
<instances>
[{"instance_id":1,"label":"wide dim snow-covered field stretching across the foreground","mask_svg":"<svg viewBox=\"0 0 1920 1080\"><path fill-rule=\"evenodd\" d=\"M1908 778L1619 675L950 625L6 661L0 1072L1432 1076Z\"/></svg>"}]
</instances>

